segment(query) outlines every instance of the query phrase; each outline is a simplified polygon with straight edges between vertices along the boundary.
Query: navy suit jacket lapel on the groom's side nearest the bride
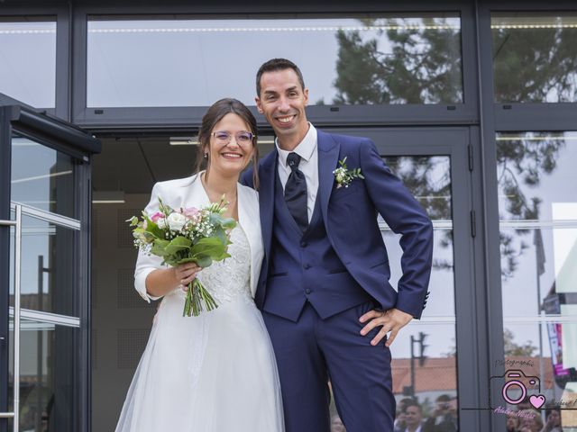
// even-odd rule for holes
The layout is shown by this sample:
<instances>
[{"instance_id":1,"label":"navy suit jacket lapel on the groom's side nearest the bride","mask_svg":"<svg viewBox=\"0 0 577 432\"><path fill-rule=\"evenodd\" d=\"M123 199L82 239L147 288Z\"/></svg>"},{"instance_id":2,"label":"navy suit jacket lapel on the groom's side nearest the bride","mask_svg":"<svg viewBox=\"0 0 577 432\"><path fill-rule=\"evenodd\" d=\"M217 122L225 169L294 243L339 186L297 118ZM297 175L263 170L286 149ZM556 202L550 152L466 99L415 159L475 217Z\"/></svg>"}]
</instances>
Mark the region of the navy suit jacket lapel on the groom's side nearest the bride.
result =
<instances>
[{"instance_id":1,"label":"navy suit jacket lapel on the groom's side nearest the bride","mask_svg":"<svg viewBox=\"0 0 577 432\"><path fill-rule=\"evenodd\" d=\"M261 187L259 198L261 207L261 229L264 253L267 260L270 258L270 242L272 241L272 219L274 217L274 184L276 177L278 152L273 150L261 162L259 177Z\"/></svg>"}]
</instances>

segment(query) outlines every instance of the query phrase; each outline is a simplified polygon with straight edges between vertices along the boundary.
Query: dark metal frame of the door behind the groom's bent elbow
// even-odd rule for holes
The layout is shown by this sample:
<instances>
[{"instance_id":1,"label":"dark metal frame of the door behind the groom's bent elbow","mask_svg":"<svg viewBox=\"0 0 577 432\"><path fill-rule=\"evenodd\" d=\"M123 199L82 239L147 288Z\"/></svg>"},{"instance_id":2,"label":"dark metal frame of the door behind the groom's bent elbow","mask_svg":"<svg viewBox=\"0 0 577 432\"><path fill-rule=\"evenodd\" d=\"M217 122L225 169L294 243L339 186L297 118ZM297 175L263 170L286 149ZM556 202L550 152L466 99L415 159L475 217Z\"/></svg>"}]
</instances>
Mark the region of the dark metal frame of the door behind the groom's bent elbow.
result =
<instances>
[{"instance_id":1,"label":"dark metal frame of the door behind the groom's bent elbow","mask_svg":"<svg viewBox=\"0 0 577 432\"><path fill-rule=\"evenodd\" d=\"M363 133L361 127L349 128L346 133ZM477 129L477 130L475 130ZM336 130L338 132L338 130ZM366 134L366 129L364 129ZM481 368L479 358L486 356L479 340L484 337L482 324L484 314L479 309L482 296L475 290L474 267L478 265L475 257L478 255L479 242L473 241L470 224L472 211L472 183L474 177L469 166L470 151L474 140L478 136L478 128L461 127L420 127L420 128L378 128L371 130L371 135L382 134L383 139L375 140L375 145L387 156L446 156L451 159L451 193L452 193L452 220L453 220L453 281L454 281L454 313L455 343L459 347L456 355L457 366L457 396L459 398L459 425L460 430L485 431L487 419L484 410L463 410L467 408L481 408L488 404L483 400L479 387L479 375L471 374L473 370ZM426 136L423 142L421 137ZM463 233L463 235L454 235ZM482 302L481 302L482 304ZM487 382L489 383L489 382Z\"/></svg>"}]
</instances>

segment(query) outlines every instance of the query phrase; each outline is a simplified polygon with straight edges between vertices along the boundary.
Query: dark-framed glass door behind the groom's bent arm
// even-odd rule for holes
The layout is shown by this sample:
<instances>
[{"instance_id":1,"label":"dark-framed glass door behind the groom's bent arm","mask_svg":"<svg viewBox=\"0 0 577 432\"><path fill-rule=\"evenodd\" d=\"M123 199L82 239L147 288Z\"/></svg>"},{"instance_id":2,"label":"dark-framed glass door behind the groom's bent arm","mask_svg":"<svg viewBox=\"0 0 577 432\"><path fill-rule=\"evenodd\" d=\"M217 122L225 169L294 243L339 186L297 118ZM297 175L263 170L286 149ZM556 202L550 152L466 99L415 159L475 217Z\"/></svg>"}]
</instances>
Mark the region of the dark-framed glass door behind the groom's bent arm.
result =
<instances>
[{"instance_id":1,"label":"dark-framed glass door behind the groom's bent arm","mask_svg":"<svg viewBox=\"0 0 577 432\"><path fill-rule=\"evenodd\" d=\"M467 363L474 340L470 130L363 128L334 132L372 139L385 163L433 220L435 246L426 309L421 320L413 320L391 346L397 426L405 430L412 426L408 423L421 421L427 430L476 430L474 419L459 410L471 406L472 392L466 389L476 386L471 376L460 373L471 370ZM389 253L390 282L396 286L402 275L399 236L382 219L380 227ZM416 400L417 406L406 409L409 400Z\"/></svg>"}]
</instances>

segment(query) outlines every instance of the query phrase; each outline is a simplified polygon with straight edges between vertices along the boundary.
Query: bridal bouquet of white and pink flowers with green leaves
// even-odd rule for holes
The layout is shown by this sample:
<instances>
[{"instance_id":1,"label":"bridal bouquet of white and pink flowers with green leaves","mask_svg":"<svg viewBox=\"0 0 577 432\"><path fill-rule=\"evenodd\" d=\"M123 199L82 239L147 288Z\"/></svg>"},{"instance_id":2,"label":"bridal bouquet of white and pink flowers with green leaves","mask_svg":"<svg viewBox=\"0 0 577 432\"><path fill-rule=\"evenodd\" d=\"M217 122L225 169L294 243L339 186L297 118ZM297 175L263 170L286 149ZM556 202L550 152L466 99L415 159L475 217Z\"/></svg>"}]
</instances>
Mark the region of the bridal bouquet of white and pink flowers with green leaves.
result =
<instances>
[{"instance_id":1,"label":"bridal bouquet of white and pink flowers with green leaves","mask_svg":"<svg viewBox=\"0 0 577 432\"><path fill-rule=\"evenodd\" d=\"M159 198L159 211L152 215L142 211L142 220L136 216L126 220L133 228L134 246L149 255L163 259L162 264L178 266L196 263L203 268L213 261L230 257L227 253L228 232L236 221L224 218L227 202L212 202L197 209L171 209ZM197 317L201 311L212 311L218 305L203 284L195 278L188 284L187 300L182 316Z\"/></svg>"}]
</instances>

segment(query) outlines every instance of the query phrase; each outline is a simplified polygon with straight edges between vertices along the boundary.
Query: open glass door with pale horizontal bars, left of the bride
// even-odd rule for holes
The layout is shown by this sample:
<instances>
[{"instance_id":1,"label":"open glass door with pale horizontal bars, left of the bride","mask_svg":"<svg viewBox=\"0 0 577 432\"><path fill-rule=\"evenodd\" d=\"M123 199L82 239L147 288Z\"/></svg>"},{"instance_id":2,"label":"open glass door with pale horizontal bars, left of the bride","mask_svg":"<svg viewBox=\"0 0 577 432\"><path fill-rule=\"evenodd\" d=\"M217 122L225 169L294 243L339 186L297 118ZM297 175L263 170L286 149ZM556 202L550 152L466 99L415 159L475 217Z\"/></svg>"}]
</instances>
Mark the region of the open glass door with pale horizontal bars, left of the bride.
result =
<instances>
[{"instance_id":1,"label":"open glass door with pale horizontal bars, left of the bride","mask_svg":"<svg viewBox=\"0 0 577 432\"><path fill-rule=\"evenodd\" d=\"M90 153L96 139L0 107L0 431L84 431Z\"/></svg>"}]
</instances>

